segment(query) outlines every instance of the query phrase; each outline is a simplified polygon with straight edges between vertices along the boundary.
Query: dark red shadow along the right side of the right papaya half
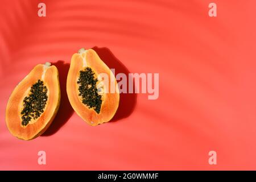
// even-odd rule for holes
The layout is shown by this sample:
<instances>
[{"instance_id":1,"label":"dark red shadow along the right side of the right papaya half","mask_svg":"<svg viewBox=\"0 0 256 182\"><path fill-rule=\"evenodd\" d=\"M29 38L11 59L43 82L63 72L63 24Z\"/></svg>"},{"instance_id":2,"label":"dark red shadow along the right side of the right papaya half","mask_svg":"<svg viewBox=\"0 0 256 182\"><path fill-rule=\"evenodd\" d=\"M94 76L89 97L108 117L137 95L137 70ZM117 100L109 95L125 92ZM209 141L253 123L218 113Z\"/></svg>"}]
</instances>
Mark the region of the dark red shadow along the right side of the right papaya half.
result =
<instances>
[{"instance_id":1,"label":"dark red shadow along the right side of the right papaya half","mask_svg":"<svg viewBox=\"0 0 256 182\"><path fill-rule=\"evenodd\" d=\"M94 51L97 52L98 56L100 56L101 60L104 61L106 65L110 69L115 69L115 75L118 73L124 73L127 78L129 76L129 70L113 55L113 53L109 50L109 48L103 47L93 47ZM134 87L134 84L133 84ZM127 84L127 90L129 90L129 85ZM134 90L134 88L133 88ZM117 113L115 113L114 117L110 122L118 121L122 118L127 118L135 108L137 102L137 94L136 93L120 93L119 107L117 109Z\"/></svg>"}]
</instances>

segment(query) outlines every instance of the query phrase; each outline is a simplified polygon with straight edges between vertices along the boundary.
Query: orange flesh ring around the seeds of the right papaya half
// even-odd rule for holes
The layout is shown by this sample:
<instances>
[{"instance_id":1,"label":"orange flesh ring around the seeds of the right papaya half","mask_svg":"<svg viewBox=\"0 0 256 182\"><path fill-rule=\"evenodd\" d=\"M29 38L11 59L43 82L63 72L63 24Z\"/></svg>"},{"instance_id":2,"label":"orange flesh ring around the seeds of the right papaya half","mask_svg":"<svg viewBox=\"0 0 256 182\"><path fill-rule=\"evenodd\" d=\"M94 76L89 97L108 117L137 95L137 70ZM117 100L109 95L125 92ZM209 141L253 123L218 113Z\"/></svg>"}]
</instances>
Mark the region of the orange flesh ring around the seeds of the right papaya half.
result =
<instances>
[{"instance_id":1,"label":"orange flesh ring around the seeds of the right papaya half","mask_svg":"<svg viewBox=\"0 0 256 182\"><path fill-rule=\"evenodd\" d=\"M119 90L117 81L115 80L115 93L104 93L102 95L102 104L100 113L96 113L93 108L90 108L82 104L79 97L77 79L80 71L84 71L86 67L93 70L96 76L100 73L110 75L114 77L109 67L100 59L97 53L93 49L80 49L79 53L74 53L71 59L71 65L67 77L67 94L71 106L76 113L89 125L97 126L101 123L109 122L115 115L119 105ZM106 83L105 83L106 84ZM108 83L110 88L110 81Z\"/></svg>"}]
</instances>

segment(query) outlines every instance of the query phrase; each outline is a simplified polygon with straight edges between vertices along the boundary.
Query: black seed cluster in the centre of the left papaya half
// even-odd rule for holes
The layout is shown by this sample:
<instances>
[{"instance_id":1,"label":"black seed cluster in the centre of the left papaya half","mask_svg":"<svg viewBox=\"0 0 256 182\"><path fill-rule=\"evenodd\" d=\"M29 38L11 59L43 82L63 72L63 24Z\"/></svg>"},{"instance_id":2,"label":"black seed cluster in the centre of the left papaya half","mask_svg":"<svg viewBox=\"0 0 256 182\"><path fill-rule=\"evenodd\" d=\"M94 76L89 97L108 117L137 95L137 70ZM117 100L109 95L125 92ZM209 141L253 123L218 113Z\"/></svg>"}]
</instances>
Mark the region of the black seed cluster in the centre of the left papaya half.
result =
<instances>
[{"instance_id":1,"label":"black seed cluster in the centre of the left papaya half","mask_svg":"<svg viewBox=\"0 0 256 182\"><path fill-rule=\"evenodd\" d=\"M30 93L23 100L22 125L27 126L32 118L37 119L46 107L47 88L44 82L38 80L30 89Z\"/></svg>"}]
</instances>

